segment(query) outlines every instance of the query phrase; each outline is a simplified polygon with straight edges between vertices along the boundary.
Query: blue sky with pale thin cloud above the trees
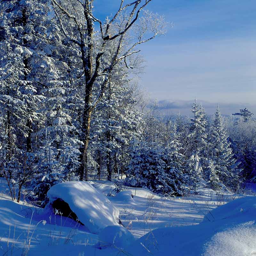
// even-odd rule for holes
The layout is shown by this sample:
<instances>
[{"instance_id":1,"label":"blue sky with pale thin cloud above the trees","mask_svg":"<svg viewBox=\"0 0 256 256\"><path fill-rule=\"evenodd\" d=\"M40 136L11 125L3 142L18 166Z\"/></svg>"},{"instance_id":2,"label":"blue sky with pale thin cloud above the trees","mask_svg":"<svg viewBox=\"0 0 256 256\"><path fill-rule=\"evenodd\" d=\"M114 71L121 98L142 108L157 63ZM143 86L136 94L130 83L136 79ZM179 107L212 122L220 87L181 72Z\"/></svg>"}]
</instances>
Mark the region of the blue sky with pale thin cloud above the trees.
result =
<instances>
[{"instance_id":1,"label":"blue sky with pale thin cloud above the trees","mask_svg":"<svg viewBox=\"0 0 256 256\"><path fill-rule=\"evenodd\" d=\"M119 3L95 0L95 14L102 19ZM141 48L140 84L152 99L184 114L195 97L209 114L217 103L223 114L256 112L255 0L153 0L148 9L174 25Z\"/></svg>"}]
</instances>

